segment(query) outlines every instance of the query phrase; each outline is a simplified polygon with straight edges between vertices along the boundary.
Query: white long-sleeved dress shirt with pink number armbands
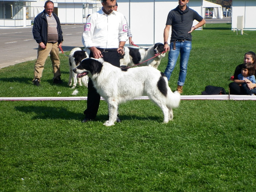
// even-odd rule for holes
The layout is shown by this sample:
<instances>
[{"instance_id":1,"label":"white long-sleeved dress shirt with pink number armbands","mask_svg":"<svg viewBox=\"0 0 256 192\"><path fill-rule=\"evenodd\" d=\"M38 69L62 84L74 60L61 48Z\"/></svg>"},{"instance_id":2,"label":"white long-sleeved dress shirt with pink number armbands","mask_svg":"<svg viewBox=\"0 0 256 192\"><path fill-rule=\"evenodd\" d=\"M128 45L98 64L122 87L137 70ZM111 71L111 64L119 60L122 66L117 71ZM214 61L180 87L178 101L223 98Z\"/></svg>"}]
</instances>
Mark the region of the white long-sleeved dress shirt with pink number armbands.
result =
<instances>
[{"instance_id":1,"label":"white long-sleeved dress shirt with pink number armbands","mask_svg":"<svg viewBox=\"0 0 256 192\"><path fill-rule=\"evenodd\" d=\"M84 47L118 48L120 41L127 40L127 22L124 15L117 11L107 15L101 8L90 15L84 25Z\"/></svg>"}]
</instances>

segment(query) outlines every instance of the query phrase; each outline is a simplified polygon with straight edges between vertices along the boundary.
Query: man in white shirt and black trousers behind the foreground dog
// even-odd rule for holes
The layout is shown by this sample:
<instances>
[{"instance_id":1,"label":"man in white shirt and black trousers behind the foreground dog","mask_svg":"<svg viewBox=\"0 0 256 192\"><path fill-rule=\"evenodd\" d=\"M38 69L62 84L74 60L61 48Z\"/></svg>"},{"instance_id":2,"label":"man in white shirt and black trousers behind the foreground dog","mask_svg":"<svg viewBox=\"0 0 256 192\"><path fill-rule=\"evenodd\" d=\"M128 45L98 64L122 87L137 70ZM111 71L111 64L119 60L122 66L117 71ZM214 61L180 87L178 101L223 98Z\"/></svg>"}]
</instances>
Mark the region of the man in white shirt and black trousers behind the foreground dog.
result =
<instances>
[{"instance_id":1,"label":"man in white shirt and black trousers behind the foreground dog","mask_svg":"<svg viewBox=\"0 0 256 192\"><path fill-rule=\"evenodd\" d=\"M89 57L99 59L103 57L106 62L120 67L119 55L124 54L124 45L127 41L127 22L124 15L113 11L116 0L102 0L101 10L90 15L86 25L82 42L84 47L90 49ZM84 111L85 118L82 123L94 120L99 108L100 95L88 82L87 109ZM117 118L117 122L120 119Z\"/></svg>"}]
</instances>

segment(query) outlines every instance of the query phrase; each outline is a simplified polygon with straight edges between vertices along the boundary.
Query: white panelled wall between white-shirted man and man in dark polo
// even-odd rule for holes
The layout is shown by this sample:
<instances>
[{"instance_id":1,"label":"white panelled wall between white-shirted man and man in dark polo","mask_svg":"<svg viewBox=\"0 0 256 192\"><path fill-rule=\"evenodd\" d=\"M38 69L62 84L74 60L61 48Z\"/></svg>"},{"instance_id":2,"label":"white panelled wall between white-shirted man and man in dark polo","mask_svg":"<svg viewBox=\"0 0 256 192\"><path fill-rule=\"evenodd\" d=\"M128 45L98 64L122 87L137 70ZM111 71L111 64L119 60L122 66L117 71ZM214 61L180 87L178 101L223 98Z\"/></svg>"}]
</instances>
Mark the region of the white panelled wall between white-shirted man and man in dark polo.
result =
<instances>
[{"instance_id":1,"label":"white panelled wall between white-shirted man and man in dark polo","mask_svg":"<svg viewBox=\"0 0 256 192\"><path fill-rule=\"evenodd\" d=\"M178 6L177 0L117 0L118 12L126 17L136 45L163 42L163 30L170 10ZM189 1L188 6L202 15L202 0ZM202 15L203 16L203 15ZM194 21L194 25L197 21ZM171 30L170 30L171 33ZM171 35L169 34L168 41ZM127 44L128 45L128 41Z\"/></svg>"}]
</instances>

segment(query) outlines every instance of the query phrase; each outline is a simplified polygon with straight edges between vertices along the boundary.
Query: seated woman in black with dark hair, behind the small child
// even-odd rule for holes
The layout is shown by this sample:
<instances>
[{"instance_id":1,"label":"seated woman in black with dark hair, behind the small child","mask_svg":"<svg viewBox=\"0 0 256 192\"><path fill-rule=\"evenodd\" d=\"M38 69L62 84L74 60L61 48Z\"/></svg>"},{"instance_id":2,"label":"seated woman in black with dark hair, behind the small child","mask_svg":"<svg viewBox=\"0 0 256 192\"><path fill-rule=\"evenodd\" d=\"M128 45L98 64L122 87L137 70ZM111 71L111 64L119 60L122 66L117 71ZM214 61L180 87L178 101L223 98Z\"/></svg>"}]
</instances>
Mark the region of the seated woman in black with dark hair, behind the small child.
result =
<instances>
[{"instance_id":1,"label":"seated woman in black with dark hair, behind the small child","mask_svg":"<svg viewBox=\"0 0 256 192\"><path fill-rule=\"evenodd\" d=\"M255 60L255 57L256 57L256 55L252 51L249 51L249 52L245 53L245 55L244 55L244 63L252 63L252 64L254 64L254 68L256 70L256 60ZM234 72L234 80L238 80L238 75L241 74L241 70L242 70L242 65L243 64L240 64L240 65L238 65L236 67L236 70ZM252 82L248 82L247 86L248 86L249 89L256 88L256 84L252 83ZM232 83L229 84L229 90L230 90L230 94L231 95L246 95L246 92L242 89L241 84L237 84L235 82L232 82Z\"/></svg>"}]
</instances>

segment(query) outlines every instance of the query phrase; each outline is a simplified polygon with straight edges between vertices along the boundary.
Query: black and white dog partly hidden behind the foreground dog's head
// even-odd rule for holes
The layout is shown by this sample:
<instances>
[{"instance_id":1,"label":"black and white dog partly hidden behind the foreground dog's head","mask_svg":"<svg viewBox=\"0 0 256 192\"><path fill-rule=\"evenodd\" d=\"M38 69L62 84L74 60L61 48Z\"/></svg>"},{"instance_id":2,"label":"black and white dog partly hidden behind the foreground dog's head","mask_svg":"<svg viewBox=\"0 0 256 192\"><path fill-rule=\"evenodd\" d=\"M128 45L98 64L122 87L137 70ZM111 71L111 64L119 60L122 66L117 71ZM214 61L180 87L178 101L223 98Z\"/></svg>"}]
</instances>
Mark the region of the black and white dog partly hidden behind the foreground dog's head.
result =
<instances>
[{"instance_id":1,"label":"black and white dog partly hidden behind the foreground dog's head","mask_svg":"<svg viewBox=\"0 0 256 192\"><path fill-rule=\"evenodd\" d=\"M77 74L74 73L73 69L76 68L80 62L88 58L88 53L85 52L84 50L80 49L79 47L76 47L71 50L69 53L68 59L69 59L69 81L68 81L68 86L72 85L72 78L73 78L73 86L71 89L74 89L76 87L77 82L79 83L80 86L82 86L81 81L83 82L84 86L88 87L88 77L82 77L78 78L77 80Z\"/></svg>"}]
</instances>

